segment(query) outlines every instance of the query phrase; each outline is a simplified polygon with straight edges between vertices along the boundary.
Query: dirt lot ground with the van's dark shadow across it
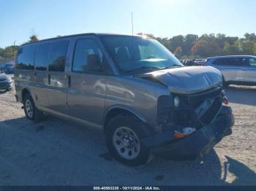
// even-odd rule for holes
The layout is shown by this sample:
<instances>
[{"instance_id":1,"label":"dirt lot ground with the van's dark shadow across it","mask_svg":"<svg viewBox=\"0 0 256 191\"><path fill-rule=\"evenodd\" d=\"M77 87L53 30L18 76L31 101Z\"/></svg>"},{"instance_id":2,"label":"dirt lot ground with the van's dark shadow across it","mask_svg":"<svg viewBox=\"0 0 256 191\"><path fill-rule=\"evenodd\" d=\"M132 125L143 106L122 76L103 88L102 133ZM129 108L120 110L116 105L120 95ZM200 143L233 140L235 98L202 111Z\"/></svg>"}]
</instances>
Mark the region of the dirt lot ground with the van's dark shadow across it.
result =
<instances>
[{"instance_id":1,"label":"dirt lot ground with the van's dark shadow across it","mask_svg":"<svg viewBox=\"0 0 256 191\"><path fill-rule=\"evenodd\" d=\"M256 87L227 88L236 124L209 155L137 168L111 159L97 130L26 120L14 95L0 93L0 185L256 185Z\"/></svg>"}]
</instances>

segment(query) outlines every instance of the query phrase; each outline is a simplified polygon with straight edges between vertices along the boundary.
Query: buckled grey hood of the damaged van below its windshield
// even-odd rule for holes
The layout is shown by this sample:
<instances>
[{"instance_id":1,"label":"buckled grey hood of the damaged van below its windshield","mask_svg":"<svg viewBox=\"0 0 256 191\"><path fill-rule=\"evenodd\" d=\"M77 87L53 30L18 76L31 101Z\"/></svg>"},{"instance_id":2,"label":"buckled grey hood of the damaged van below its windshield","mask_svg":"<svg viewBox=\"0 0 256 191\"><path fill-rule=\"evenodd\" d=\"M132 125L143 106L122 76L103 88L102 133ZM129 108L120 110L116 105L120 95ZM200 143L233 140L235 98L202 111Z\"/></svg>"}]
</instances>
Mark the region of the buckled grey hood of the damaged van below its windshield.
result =
<instances>
[{"instance_id":1,"label":"buckled grey hood of the damaged van below its windshield","mask_svg":"<svg viewBox=\"0 0 256 191\"><path fill-rule=\"evenodd\" d=\"M157 79L170 93L192 94L222 86L222 74L211 66L188 66L152 71L141 77Z\"/></svg>"}]
</instances>

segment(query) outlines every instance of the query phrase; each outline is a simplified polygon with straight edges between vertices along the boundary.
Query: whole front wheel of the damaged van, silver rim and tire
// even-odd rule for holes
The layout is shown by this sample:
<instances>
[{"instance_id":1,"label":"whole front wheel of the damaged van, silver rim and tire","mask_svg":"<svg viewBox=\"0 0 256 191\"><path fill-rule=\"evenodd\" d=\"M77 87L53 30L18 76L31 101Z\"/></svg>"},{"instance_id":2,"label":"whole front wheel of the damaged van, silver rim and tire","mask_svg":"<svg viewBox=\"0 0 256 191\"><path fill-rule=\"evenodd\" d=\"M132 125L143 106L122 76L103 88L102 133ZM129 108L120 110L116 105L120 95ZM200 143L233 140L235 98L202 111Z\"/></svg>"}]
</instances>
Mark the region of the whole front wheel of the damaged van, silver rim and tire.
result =
<instances>
[{"instance_id":1,"label":"whole front wheel of the damaged van, silver rim and tire","mask_svg":"<svg viewBox=\"0 0 256 191\"><path fill-rule=\"evenodd\" d=\"M148 148L141 139L146 136L143 124L135 117L120 114L106 127L106 142L110 154L127 165L143 165L149 158Z\"/></svg>"}]
</instances>

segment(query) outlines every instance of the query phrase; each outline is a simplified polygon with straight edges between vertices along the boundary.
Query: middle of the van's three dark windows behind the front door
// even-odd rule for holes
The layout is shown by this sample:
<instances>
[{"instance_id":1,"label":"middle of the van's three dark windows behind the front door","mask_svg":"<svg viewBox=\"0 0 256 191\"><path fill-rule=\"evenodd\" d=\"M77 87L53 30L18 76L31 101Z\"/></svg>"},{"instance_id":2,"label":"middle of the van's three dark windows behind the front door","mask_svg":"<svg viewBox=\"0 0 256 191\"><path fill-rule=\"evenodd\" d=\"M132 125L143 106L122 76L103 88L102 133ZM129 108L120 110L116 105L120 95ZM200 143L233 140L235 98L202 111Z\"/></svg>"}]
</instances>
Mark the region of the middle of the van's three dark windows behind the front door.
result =
<instances>
[{"instance_id":1,"label":"middle of the van's three dark windows behind the front door","mask_svg":"<svg viewBox=\"0 0 256 191\"><path fill-rule=\"evenodd\" d=\"M40 44L37 48L37 54L34 61L37 70L46 71L49 50L50 43Z\"/></svg>"}]
</instances>

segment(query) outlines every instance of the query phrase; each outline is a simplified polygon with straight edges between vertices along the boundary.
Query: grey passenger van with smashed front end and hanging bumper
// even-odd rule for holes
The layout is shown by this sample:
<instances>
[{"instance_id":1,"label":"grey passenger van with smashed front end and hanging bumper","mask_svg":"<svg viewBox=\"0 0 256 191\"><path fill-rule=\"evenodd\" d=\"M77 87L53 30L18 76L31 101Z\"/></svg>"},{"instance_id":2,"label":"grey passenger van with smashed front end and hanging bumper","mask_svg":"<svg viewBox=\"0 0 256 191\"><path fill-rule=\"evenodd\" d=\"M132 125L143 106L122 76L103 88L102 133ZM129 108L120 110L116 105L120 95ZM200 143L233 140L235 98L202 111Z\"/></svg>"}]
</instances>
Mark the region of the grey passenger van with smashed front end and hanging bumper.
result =
<instances>
[{"instance_id":1,"label":"grey passenger van with smashed front end and hanging bumper","mask_svg":"<svg viewBox=\"0 0 256 191\"><path fill-rule=\"evenodd\" d=\"M205 154L231 133L233 114L213 67L184 67L144 36L79 34L23 44L16 98L26 117L48 113L105 133L110 154L141 165L151 153Z\"/></svg>"}]
</instances>

